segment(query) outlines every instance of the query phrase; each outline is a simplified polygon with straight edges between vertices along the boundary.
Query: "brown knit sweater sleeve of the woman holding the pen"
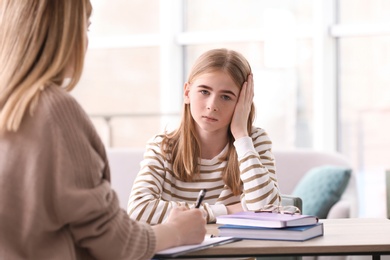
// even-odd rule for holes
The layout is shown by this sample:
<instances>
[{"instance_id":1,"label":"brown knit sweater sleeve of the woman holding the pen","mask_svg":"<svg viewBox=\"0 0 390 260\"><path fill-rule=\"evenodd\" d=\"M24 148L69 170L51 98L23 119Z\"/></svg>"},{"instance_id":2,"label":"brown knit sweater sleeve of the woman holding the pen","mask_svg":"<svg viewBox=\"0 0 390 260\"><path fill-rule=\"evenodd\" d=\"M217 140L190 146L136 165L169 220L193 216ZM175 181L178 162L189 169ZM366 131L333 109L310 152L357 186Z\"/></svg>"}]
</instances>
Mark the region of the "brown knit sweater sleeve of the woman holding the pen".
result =
<instances>
[{"instance_id":1,"label":"brown knit sweater sleeve of the woman holding the pen","mask_svg":"<svg viewBox=\"0 0 390 260\"><path fill-rule=\"evenodd\" d=\"M151 258L154 232L120 208L104 146L85 112L66 94L43 100L51 117L46 147L52 149L53 217L71 233L76 253L96 259Z\"/></svg>"}]
</instances>

